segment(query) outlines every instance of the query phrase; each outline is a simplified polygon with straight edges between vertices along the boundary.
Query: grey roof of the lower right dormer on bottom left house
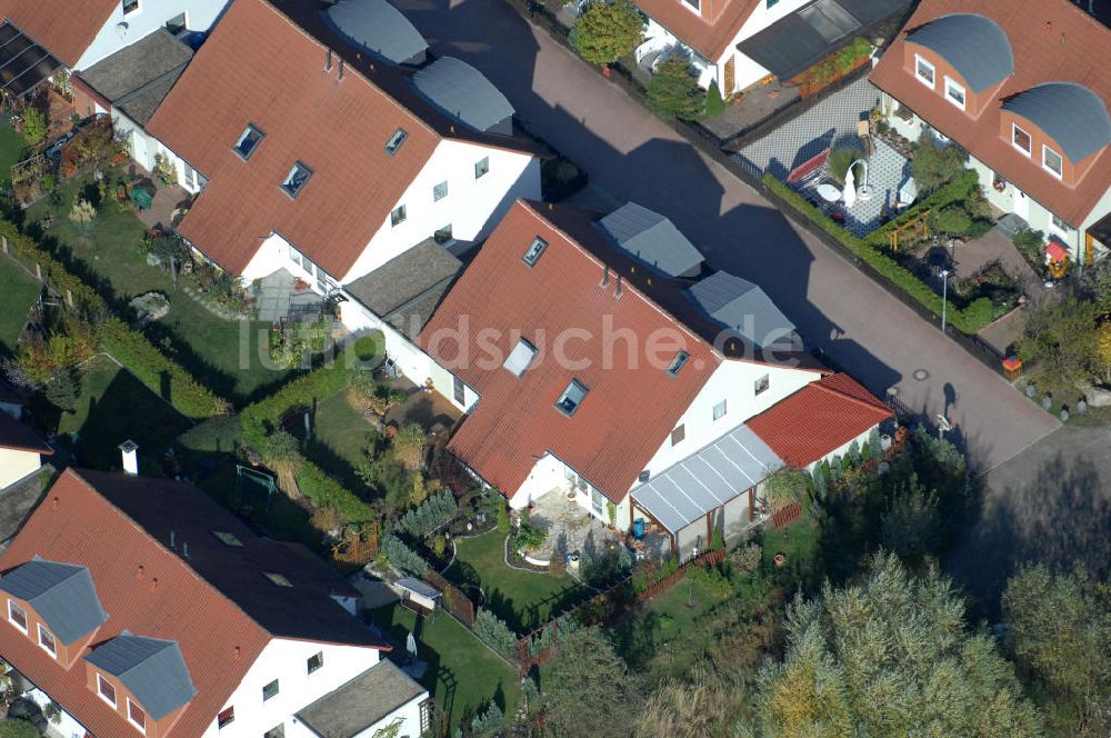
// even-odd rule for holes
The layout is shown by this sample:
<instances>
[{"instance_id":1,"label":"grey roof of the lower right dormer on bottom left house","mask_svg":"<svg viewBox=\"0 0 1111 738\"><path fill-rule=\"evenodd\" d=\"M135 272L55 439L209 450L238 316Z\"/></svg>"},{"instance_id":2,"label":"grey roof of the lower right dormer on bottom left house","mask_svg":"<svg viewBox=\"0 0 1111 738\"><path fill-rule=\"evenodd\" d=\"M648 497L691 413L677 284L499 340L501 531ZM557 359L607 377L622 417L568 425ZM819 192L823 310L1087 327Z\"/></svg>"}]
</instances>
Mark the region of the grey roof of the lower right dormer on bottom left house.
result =
<instances>
[{"instance_id":1,"label":"grey roof of the lower right dormer on bottom left house","mask_svg":"<svg viewBox=\"0 0 1111 738\"><path fill-rule=\"evenodd\" d=\"M144 638L124 630L94 648L86 660L119 678L154 720L161 720L197 694L176 640Z\"/></svg>"}]
</instances>

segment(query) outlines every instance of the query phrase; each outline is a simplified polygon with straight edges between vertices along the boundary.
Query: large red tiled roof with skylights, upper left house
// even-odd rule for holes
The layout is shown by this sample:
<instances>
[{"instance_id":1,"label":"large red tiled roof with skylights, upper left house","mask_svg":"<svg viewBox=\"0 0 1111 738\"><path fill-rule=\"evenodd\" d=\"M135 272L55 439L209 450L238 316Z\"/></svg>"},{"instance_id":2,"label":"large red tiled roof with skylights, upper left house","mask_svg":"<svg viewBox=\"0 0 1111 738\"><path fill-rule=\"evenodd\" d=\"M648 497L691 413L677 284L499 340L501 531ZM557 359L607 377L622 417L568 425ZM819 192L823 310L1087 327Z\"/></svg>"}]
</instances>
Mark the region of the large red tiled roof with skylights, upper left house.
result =
<instances>
[{"instance_id":1,"label":"large red tiled roof with skylights, upper left house","mask_svg":"<svg viewBox=\"0 0 1111 738\"><path fill-rule=\"evenodd\" d=\"M149 130L209 178L180 230L241 273L281 233L337 279L347 276L440 137L264 0L236 0L151 118ZM251 123L250 160L232 146ZM409 138L390 157L398 128ZM312 170L296 200L279 188Z\"/></svg>"}]
</instances>

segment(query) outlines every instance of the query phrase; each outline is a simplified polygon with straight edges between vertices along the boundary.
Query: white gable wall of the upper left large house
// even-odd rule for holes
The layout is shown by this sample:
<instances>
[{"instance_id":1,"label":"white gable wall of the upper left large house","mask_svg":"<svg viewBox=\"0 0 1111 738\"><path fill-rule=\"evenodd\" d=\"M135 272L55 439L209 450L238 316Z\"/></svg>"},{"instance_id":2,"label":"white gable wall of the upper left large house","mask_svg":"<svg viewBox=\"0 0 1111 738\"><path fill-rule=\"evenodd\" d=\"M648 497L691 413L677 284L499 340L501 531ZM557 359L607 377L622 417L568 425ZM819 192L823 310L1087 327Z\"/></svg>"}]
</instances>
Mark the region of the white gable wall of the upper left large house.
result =
<instances>
[{"instance_id":1,"label":"white gable wall of the upper left large house","mask_svg":"<svg viewBox=\"0 0 1111 738\"><path fill-rule=\"evenodd\" d=\"M490 171L474 179L474 164L490 159ZM432 199L432 188L448 182L448 196ZM408 251L438 230L451 226L452 238L476 241L501 220L517 198L540 199L540 160L528 153L443 140L391 210L406 207L406 220L390 225L390 216L378 228L340 280L347 285Z\"/></svg>"}]
</instances>

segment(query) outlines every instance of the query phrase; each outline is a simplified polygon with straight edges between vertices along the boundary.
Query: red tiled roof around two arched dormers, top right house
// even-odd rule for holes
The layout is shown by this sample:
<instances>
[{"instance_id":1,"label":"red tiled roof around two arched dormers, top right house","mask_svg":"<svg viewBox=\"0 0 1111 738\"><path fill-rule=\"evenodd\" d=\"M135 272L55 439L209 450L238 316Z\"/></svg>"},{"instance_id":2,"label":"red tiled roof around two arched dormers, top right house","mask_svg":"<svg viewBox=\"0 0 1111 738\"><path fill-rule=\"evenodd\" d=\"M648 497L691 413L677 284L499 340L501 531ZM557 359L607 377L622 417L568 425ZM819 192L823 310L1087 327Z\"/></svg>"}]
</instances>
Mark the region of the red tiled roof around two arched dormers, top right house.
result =
<instances>
[{"instance_id":1,"label":"red tiled roof around two arched dormers, top right house","mask_svg":"<svg viewBox=\"0 0 1111 738\"><path fill-rule=\"evenodd\" d=\"M903 69L907 32L941 16L979 13L995 21L1011 43L1014 73L973 120ZM1077 82L1111 108L1111 31L1067 0L922 0L903 32L872 70L871 79L931 126L968 149L1004 179L1073 227L1080 227L1111 187L1104 149L1075 188L1043 170L1037 159L1000 137L1000 104L1044 82ZM1102 213L1097 213L1102 215Z\"/></svg>"}]
</instances>

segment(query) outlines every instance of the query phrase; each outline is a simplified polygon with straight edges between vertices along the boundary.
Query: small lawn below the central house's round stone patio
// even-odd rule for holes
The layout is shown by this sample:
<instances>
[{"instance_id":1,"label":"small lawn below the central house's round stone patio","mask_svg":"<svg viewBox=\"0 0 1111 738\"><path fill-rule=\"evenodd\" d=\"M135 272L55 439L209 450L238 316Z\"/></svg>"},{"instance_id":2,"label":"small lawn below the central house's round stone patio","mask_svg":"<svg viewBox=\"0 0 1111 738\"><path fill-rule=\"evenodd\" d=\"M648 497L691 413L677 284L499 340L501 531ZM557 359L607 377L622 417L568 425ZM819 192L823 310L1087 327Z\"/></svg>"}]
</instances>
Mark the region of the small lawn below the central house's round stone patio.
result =
<instances>
[{"instance_id":1,"label":"small lawn below the central house's round stone patio","mask_svg":"<svg viewBox=\"0 0 1111 738\"><path fill-rule=\"evenodd\" d=\"M497 530L457 538L456 561L444 576L456 584L480 586L487 608L518 634L529 632L593 594L569 576L554 579L509 568L504 541Z\"/></svg>"}]
</instances>

